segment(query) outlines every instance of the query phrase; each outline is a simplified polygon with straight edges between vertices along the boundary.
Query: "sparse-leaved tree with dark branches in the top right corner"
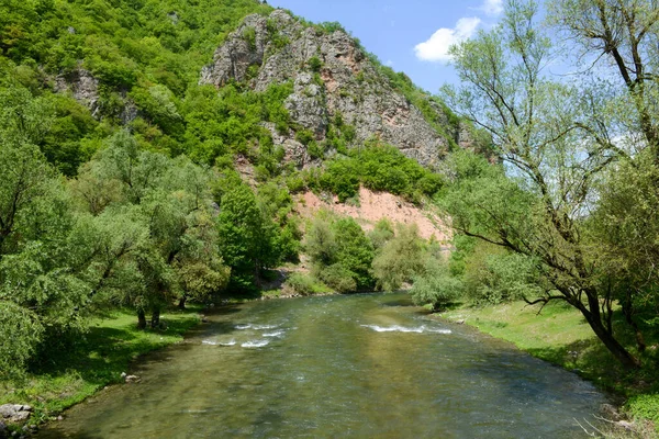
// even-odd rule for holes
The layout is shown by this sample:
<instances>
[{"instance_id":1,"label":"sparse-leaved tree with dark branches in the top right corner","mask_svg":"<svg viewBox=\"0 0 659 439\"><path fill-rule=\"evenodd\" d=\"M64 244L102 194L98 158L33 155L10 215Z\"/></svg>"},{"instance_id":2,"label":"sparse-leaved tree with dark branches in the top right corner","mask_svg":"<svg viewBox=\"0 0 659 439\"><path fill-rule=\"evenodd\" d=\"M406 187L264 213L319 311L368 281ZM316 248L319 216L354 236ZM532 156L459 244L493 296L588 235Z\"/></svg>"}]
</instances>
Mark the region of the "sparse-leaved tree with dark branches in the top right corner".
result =
<instances>
[{"instance_id":1,"label":"sparse-leaved tree with dark branches in the top right corner","mask_svg":"<svg viewBox=\"0 0 659 439\"><path fill-rule=\"evenodd\" d=\"M659 4L655 0L554 0L549 16L567 36L583 77L607 99L583 127L599 142L618 149L616 136L633 137L627 146L650 148L659 164ZM615 110L612 112L612 110ZM629 157L627 155L627 157Z\"/></svg>"}]
</instances>

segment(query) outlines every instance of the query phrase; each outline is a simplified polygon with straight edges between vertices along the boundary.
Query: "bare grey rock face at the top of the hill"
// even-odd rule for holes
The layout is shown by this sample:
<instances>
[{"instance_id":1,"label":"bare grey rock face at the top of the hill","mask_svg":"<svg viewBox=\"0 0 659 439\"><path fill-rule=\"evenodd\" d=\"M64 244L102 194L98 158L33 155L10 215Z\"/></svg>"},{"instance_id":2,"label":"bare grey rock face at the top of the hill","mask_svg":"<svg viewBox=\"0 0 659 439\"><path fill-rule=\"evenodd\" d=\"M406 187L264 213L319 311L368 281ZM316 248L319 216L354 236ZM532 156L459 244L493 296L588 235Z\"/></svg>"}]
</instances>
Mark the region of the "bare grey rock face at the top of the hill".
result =
<instances>
[{"instance_id":1,"label":"bare grey rock face at the top of the hill","mask_svg":"<svg viewBox=\"0 0 659 439\"><path fill-rule=\"evenodd\" d=\"M331 121L340 114L355 128L353 144L379 138L429 167L442 160L450 143L469 142L465 127L451 126L439 105L437 120L445 133L428 123L348 34L305 26L282 10L247 16L216 49L213 64L203 68L200 83L222 87L231 80L256 91L292 81L286 108L295 126L314 133L316 140L325 138ZM302 165L310 160L292 131L276 135L268 128L288 157Z\"/></svg>"}]
</instances>

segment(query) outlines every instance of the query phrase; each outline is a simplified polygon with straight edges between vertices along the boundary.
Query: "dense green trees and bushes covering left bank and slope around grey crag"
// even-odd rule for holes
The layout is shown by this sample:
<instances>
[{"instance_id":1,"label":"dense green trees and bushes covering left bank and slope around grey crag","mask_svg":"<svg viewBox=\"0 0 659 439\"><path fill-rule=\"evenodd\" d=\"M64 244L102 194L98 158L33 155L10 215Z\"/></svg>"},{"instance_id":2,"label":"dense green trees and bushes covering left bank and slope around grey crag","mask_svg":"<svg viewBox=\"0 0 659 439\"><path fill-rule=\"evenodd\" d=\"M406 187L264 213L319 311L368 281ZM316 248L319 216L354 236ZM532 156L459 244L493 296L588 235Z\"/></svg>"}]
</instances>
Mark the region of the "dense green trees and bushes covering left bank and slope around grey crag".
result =
<instances>
[{"instance_id":1,"label":"dense green trees and bushes covering left bank and slope around grey crag","mask_svg":"<svg viewBox=\"0 0 659 439\"><path fill-rule=\"evenodd\" d=\"M198 85L228 32L269 11L248 0L0 5L0 379L59 361L99 312L129 309L157 329L174 303L257 290L299 258L292 192L357 202L364 184L422 202L440 189L395 148L355 145L340 114L323 143L294 126L291 82ZM286 162L264 123L292 130L325 166ZM370 241L355 222L334 223L323 280L375 288Z\"/></svg>"}]
</instances>

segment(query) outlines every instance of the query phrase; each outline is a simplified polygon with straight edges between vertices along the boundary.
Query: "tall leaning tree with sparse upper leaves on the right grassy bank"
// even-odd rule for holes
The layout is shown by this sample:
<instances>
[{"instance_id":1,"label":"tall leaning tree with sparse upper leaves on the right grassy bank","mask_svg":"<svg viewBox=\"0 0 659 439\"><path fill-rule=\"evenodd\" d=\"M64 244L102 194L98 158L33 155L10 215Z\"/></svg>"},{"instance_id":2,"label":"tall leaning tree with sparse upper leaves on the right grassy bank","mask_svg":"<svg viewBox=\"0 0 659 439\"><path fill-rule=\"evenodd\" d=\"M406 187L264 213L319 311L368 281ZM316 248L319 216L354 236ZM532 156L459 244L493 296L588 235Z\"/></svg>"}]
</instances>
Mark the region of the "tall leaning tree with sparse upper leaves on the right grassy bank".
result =
<instances>
[{"instance_id":1,"label":"tall leaning tree with sparse upper leaves on the right grassy bank","mask_svg":"<svg viewBox=\"0 0 659 439\"><path fill-rule=\"evenodd\" d=\"M533 258L550 285L530 303L561 300L584 316L627 368L639 361L619 341L585 215L595 181L617 157L592 136L591 95L549 79L551 45L534 1L510 0L502 24L451 49L465 85L446 88L454 108L488 131L507 169L460 157L462 179L447 198L454 226Z\"/></svg>"}]
</instances>

